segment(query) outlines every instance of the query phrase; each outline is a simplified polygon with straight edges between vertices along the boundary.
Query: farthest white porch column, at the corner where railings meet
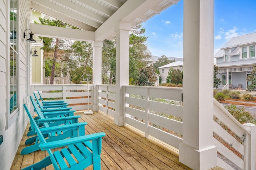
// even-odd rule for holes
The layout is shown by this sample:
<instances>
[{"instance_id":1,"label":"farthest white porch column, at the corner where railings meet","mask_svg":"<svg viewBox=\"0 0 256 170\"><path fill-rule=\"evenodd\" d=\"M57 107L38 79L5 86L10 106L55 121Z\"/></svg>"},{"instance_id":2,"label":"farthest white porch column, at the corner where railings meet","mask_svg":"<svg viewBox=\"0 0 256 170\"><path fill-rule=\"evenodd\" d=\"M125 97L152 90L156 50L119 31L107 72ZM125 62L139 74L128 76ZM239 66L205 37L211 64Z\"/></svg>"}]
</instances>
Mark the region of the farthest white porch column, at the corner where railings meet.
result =
<instances>
[{"instance_id":1,"label":"farthest white porch column, at the corner where railings meet","mask_svg":"<svg viewBox=\"0 0 256 170\"><path fill-rule=\"evenodd\" d=\"M102 68L102 41L92 42L92 80L94 84L94 94L92 96L92 111L98 111L98 90L97 84L101 83L101 68Z\"/></svg>"}]
</instances>

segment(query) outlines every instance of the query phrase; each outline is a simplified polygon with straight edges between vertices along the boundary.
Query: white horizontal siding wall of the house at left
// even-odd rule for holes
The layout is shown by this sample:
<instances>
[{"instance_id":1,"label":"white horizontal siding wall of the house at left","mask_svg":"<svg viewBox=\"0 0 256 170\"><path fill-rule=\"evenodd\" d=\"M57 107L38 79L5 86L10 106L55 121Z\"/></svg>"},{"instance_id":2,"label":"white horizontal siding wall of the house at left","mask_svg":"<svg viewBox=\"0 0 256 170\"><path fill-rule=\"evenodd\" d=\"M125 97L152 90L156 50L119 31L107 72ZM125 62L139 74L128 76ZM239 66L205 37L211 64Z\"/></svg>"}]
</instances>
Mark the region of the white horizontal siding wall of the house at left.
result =
<instances>
[{"instance_id":1,"label":"white horizontal siding wall of the house at left","mask_svg":"<svg viewBox=\"0 0 256 170\"><path fill-rule=\"evenodd\" d=\"M18 28L19 35L19 53L18 53L18 117L9 127L8 123L8 50L9 50L9 4L10 0L0 0L0 135L3 135L3 143L0 145L0 169L9 170L14 156L17 152L20 140L28 123L28 117L24 112L23 104L26 104L26 41L23 41L23 31L26 28L26 18L30 20L30 1L18 0L20 25ZM3 18L4 17L4 18ZM5 116L4 116L5 115ZM6 127L5 127L6 126Z\"/></svg>"}]
</instances>

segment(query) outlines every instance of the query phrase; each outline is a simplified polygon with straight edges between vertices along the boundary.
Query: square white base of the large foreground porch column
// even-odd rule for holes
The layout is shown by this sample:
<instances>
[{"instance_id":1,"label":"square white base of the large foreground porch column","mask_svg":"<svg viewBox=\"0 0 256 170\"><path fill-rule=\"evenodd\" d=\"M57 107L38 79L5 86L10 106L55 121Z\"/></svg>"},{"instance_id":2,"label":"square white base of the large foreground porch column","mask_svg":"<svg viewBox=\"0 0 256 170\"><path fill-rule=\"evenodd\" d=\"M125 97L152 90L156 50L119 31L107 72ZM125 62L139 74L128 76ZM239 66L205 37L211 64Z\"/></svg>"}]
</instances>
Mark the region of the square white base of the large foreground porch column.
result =
<instances>
[{"instance_id":1,"label":"square white base of the large foreground porch column","mask_svg":"<svg viewBox=\"0 0 256 170\"><path fill-rule=\"evenodd\" d=\"M217 147L195 149L180 143L179 161L193 170L208 170L217 166Z\"/></svg>"}]
</instances>

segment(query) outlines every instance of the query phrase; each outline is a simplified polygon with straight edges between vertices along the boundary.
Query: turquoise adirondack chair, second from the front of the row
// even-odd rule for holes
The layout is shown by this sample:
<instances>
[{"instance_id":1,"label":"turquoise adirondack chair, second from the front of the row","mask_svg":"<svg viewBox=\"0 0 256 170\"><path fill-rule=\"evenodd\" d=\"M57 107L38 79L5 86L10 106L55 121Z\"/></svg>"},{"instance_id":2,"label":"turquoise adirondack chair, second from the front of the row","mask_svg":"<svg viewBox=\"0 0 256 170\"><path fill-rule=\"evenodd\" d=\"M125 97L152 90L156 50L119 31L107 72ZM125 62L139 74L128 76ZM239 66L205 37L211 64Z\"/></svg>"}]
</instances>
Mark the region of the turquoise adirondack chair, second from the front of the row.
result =
<instances>
[{"instance_id":1,"label":"turquoise adirondack chair, second from the front of the row","mask_svg":"<svg viewBox=\"0 0 256 170\"><path fill-rule=\"evenodd\" d=\"M48 118L49 120L49 118L56 119L56 117L58 117L58 121L52 121L51 123L49 123L49 126L58 126L58 125L68 124L68 123L78 123L78 118L81 117L81 116L74 116L74 111L53 111L53 112L42 113L42 111L40 110L40 108L38 107L36 101L32 96L30 96L30 100L34 107L34 111L36 111L36 113L38 114L38 117L34 119L36 123L38 123L39 127L44 126L44 124L42 123L42 119L44 118ZM30 131L27 134L28 136L35 135L35 132L32 131L31 127L29 128L29 130Z\"/></svg>"}]
</instances>

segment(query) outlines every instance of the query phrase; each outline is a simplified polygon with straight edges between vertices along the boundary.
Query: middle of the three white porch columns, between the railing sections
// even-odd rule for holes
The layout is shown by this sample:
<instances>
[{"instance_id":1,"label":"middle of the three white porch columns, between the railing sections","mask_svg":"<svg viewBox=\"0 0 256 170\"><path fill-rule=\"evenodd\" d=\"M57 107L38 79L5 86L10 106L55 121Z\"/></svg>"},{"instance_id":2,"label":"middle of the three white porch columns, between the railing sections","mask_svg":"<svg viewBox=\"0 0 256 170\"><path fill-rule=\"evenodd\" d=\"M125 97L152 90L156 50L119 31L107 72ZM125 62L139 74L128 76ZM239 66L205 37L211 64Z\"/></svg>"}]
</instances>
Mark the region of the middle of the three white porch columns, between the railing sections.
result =
<instances>
[{"instance_id":1,"label":"middle of the three white porch columns, between the railing sections","mask_svg":"<svg viewBox=\"0 0 256 170\"><path fill-rule=\"evenodd\" d=\"M116 113L114 123L124 125L124 93L122 86L129 85L129 33L131 23L116 23Z\"/></svg>"}]
</instances>

